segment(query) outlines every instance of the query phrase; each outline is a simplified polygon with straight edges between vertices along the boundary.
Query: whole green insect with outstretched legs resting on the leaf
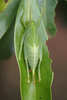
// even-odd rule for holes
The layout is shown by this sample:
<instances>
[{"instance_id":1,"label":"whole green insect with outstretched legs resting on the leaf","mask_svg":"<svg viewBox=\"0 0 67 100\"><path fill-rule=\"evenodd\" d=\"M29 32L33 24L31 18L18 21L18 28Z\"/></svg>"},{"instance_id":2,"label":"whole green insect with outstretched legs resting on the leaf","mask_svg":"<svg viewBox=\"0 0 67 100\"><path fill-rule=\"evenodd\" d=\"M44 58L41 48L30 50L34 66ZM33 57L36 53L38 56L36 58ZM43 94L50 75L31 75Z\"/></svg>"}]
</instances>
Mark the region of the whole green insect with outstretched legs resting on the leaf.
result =
<instances>
[{"instance_id":1,"label":"whole green insect with outstretched legs resting on the leaf","mask_svg":"<svg viewBox=\"0 0 67 100\"><path fill-rule=\"evenodd\" d=\"M39 82L41 81L40 64L42 61L42 43L40 40L38 27L42 18L43 8L42 8L42 12L37 23L33 19L27 22L24 22L23 17L25 14L25 8L23 9L24 9L24 12L21 17L21 22L23 26L25 27L25 33L23 34L23 37L21 40L21 46L20 46L20 51L19 51L19 61L21 60L21 53L22 53L22 47L23 47L24 57L25 57L25 62L26 62L26 69L27 69L27 78L28 78L27 82L28 84L30 83L30 76L29 76L29 66L30 66L32 70L33 81L35 84L35 69L36 69L37 64L38 64Z\"/></svg>"}]
</instances>

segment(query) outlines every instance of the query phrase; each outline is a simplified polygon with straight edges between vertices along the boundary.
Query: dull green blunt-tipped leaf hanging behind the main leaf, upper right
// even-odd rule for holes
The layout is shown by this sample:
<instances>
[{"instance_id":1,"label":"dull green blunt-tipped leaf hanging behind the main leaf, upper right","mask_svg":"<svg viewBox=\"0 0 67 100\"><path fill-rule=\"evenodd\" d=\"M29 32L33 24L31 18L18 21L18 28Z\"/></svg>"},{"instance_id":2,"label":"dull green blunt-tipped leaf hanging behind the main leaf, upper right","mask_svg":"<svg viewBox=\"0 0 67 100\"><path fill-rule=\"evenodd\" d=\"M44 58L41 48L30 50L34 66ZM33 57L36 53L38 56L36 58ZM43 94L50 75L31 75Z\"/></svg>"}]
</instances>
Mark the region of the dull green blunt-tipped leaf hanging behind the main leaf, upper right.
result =
<instances>
[{"instance_id":1,"label":"dull green blunt-tipped leaf hanging behind the main leaf, upper right","mask_svg":"<svg viewBox=\"0 0 67 100\"><path fill-rule=\"evenodd\" d=\"M39 8L44 8L43 21L48 33L48 37L53 37L56 33L54 24L55 7L57 0L37 0Z\"/></svg>"}]
</instances>

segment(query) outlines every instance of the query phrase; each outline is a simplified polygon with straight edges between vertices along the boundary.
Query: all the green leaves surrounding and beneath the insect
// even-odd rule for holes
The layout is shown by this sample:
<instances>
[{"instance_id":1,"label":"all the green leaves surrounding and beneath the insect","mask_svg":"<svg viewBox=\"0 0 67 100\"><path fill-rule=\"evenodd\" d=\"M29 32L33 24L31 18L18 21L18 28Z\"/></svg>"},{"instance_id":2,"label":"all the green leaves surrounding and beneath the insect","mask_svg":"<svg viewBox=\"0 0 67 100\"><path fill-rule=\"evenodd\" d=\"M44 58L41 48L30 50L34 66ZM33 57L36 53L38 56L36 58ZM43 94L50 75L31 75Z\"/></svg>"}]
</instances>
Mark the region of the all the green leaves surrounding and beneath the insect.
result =
<instances>
[{"instance_id":1,"label":"all the green leaves surrounding and beneath the insect","mask_svg":"<svg viewBox=\"0 0 67 100\"><path fill-rule=\"evenodd\" d=\"M56 0L8 0L3 4L0 2L0 60L8 58L14 53L13 48L13 33L14 33L14 48L17 62L20 68L20 89L22 100L51 100L51 84L53 79L53 72L51 70L51 60L49 58L46 41L49 37L53 37L56 33L54 24ZM33 3L32 3L33 2ZM3 5L2 5L3 4ZM19 5L20 4L20 5ZM4 6L5 5L5 6ZM24 21L30 20L30 11L32 7L33 20L38 21L41 14L41 7L43 7L43 18L38 27L40 38L42 42L42 63L41 63L41 82L38 82L38 66L35 71L35 84L32 79L32 72L30 71L30 84L27 84L27 71L24 60L24 52L22 50L21 61L18 60L19 48L21 39L25 32L25 28L20 22L23 14L23 7L25 6ZM17 12L18 10L18 12ZM16 16L17 13L17 16ZM16 21L15 21L16 16ZM14 29L15 24L15 29ZM49 35L47 35L49 34ZM4 36L3 36L4 35ZM4 42L5 41L5 42ZM3 44L2 44L3 43ZM3 46L4 45L4 46ZM7 49L8 51L7 52ZM4 53L4 55L3 55ZM3 56L2 56L3 55Z\"/></svg>"}]
</instances>

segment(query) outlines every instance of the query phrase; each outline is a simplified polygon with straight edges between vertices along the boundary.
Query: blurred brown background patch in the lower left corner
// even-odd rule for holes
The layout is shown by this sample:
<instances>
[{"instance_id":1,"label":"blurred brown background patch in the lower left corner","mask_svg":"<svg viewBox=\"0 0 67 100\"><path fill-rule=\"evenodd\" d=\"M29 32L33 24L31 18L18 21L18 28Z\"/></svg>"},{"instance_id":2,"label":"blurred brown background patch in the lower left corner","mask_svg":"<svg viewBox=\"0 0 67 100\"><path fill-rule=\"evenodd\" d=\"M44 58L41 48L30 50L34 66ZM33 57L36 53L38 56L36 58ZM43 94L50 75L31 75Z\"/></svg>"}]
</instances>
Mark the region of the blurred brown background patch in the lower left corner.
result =
<instances>
[{"instance_id":1,"label":"blurred brown background patch in the lower left corner","mask_svg":"<svg viewBox=\"0 0 67 100\"><path fill-rule=\"evenodd\" d=\"M0 100L21 100L19 67L15 56L0 62Z\"/></svg>"}]
</instances>

